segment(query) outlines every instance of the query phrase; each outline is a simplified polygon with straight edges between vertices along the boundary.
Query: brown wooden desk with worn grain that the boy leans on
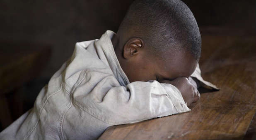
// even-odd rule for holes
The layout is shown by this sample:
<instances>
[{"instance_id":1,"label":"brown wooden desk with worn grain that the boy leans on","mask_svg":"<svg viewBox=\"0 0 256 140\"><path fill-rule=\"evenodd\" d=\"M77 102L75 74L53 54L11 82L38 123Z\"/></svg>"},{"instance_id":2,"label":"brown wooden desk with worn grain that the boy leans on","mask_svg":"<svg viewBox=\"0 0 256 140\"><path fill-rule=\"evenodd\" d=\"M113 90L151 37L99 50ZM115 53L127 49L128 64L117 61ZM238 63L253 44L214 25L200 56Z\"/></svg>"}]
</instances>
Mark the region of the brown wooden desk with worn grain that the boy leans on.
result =
<instances>
[{"instance_id":1,"label":"brown wooden desk with worn grain that the boy leans on","mask_svg":"<svg viewBox=\"0 0 256 140\"><path fill-rule=\"evenodd\" d=\"M201 94L191 112L111 126L99 139L244 138L256 112L255 36L203 36L202 40L203 78L220 91ZM254 119L250 126L254 139L255 127Z\"/></svg>"}]
</instances>

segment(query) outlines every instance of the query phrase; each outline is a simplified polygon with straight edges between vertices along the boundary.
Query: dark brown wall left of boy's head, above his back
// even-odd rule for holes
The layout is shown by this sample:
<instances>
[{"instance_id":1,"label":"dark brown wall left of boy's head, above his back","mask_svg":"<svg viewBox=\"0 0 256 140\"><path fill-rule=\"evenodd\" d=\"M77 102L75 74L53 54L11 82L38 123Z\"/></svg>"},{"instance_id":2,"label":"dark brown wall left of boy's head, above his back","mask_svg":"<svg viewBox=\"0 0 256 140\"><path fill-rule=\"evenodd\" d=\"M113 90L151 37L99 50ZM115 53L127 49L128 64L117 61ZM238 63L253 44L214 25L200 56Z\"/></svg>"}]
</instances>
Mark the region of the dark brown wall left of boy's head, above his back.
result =
<instances>
[{"instance_id":1,"label":"dark brown wall left of boy's head, above his back","mask_svg":"<svg viewBox=\"0 0 256 140\"><path fill-rule=\"evenodd\" d=\"M131 2L1 0L0 41L50 45L52 55L41 75L49 78L72 55L76 42L99 39L106 30L116 31Z\"/></svg>"}]
</instances>

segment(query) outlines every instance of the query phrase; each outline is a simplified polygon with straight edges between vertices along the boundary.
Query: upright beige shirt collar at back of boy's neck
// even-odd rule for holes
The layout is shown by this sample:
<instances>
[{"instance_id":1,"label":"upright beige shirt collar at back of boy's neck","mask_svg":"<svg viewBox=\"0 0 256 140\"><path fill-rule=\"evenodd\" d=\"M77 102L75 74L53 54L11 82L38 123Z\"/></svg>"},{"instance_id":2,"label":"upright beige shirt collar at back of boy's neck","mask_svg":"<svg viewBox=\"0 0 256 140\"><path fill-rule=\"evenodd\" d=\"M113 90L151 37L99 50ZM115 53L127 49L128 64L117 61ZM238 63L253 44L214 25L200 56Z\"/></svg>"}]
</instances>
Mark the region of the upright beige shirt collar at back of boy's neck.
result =
<instances>
[{"instance_id":1,"label":"upright beige shirt collar at back of boy's neck","mask_svg":"<svg viewBox=\"0 0 256 140\"><path fill-rule=\"evenodd\" d=\"M99 39L99 45L101 46L102 50L105 53L106 59L107 59L107 63L109 65L109 67L111 68L111 70L113 71L116 79L118 80L118 82L123 85L126 86L127 84L129 84L129 79L126 76L126 74L123 72L123 69L121 68L121 65L116 57L116 53L114 51L114 47L113 44L111 42L111 38L115 35L116 33L114 33L111 30L107 30Z\"/></svg>"}]
</instances>

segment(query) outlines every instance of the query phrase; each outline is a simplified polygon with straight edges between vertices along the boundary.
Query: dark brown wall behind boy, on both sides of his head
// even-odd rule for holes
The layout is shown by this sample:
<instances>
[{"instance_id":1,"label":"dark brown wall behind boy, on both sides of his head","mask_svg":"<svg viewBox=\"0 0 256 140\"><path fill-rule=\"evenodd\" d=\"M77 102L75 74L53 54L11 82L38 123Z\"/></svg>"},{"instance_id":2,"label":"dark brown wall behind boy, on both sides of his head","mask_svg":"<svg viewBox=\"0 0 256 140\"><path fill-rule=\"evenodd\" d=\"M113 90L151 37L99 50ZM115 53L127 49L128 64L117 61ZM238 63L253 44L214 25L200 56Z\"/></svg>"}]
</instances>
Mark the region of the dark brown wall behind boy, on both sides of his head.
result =
<instances>
[{"instance_id":1,"label":"dark brown wall behind boy, on both sides of his head","mask_svg":"<svg viewBox=\"0 0 256 140\"><path fill-rule=\"evenodd\" d=\"M117 31L132 1L0 0L0 41L50 45L52 55L41 75L50 78L72 54L75 42L99 38L106 30ZM255 0L184 2L201 28L249 28L255 33Z\"/></svg>"}]
</instances>

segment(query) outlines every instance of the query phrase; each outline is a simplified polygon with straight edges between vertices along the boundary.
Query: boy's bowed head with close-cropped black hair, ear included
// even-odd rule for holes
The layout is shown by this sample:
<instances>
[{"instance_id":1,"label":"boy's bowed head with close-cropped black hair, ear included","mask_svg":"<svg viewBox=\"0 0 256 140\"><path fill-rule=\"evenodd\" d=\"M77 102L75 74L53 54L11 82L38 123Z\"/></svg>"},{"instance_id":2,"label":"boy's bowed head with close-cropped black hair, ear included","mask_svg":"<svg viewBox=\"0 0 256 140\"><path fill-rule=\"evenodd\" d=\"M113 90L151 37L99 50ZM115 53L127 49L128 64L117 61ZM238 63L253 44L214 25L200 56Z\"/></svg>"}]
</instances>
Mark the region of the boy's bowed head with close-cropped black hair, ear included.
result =
<instances>
[{"instance_id":1,"label":"boy's bowed head with close-cropped black hair, ear included","mask_svg":"<svg viewBox=\"0 0 256 140\"><path fill-rule=\"evenodd\" d=\"M135 0L112 42L130 82L188 77L201 53L196 19L180 0Z\"/></svg>"}]
</instances>

